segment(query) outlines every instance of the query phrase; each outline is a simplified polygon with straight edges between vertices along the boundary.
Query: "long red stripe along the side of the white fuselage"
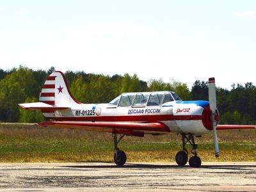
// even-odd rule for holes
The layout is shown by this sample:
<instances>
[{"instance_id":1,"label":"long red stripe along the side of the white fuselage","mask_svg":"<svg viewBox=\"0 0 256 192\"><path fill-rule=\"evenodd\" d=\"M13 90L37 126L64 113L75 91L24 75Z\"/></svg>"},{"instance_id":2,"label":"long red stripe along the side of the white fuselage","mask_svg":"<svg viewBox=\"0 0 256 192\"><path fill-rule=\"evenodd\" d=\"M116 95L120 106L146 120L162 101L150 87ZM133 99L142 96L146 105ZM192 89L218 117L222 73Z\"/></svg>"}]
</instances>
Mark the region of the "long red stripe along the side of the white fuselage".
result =
<instances>
[{"instance_id":1,"label":"long red stripe along the side of the white fuselage","mask_svg":"<svg viewBox=\"0 0 256 192\"><path fill-rule=\"evenodd\" d=\"M136 115L136 116L77 116L51 117L60 121L92 121L92 122L156 122L168 120L202 120L201 115Z\"/></svg>"}]
</instances>

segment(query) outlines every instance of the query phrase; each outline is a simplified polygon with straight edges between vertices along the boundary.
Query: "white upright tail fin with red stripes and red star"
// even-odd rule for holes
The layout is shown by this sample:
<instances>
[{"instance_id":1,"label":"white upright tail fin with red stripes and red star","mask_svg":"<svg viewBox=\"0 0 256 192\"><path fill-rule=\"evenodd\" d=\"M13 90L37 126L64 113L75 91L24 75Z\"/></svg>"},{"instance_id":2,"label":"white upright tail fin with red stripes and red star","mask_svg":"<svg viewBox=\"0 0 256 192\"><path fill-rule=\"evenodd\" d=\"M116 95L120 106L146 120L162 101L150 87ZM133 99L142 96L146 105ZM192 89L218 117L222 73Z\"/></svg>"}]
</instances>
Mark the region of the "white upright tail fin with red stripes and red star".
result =
<instances>
[{"instance_id":1,"label":"white upright tail fin with red stripes and red star","mask_svg":"<svg viewBox=\"0 0 256 192\"><path fill-rule=\"evenodd\" d=\"M39 95L39 101L58 107L70 107L72 104L80 104L70 93L66 78L60 71L53 72L47 77Z\"/></svg>"}]
</instances>

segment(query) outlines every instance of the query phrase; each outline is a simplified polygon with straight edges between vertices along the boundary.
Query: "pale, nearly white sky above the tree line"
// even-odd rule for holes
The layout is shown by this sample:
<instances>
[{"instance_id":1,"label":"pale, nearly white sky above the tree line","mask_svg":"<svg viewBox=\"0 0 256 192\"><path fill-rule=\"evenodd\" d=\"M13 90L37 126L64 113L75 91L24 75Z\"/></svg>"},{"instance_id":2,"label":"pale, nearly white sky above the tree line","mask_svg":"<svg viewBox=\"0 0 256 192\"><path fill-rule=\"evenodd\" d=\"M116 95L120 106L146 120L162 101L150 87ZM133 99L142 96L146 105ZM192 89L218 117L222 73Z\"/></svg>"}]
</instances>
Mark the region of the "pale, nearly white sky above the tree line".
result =
<instances>
[{"instance_id":1,"label":"pale, nearly white sky above the tree line","mask_svg":"<svg viewBox=\"0 0 256 192\"><path fill-rule=\"evenodd\" d=\"M256 1L0 0L0 68L256 85Z\"/></svg>"}]
</instances>

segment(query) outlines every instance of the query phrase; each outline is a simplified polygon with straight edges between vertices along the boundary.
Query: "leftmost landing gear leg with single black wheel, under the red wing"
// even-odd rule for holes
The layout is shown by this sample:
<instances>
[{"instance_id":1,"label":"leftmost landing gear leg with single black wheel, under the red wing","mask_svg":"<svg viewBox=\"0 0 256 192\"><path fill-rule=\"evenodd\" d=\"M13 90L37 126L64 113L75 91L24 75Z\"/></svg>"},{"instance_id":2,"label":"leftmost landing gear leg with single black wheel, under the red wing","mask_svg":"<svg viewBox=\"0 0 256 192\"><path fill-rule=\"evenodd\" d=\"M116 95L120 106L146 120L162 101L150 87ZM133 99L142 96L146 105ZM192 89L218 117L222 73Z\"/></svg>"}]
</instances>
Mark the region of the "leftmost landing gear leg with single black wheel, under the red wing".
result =
<instances>
[{"instance_id":1,"label":"leftmost landing gear leg with single black wheel, under the red wing","mask_svg":"<svg viewBox=\"0 0 256 192\"><path fill-rule=\"evenodd\" d=\"M126 162L126 154L124 151L119 150L119 148L117 147L118 143L122 140L122 138L124 138L124 134L122 136L120 136L119 140L117 140L117 135L116 133L113 133L113 138L114 138L114 143L115 143L115 149L114 149L114 161L116 163L116 165L124 165Z\"/></svg>"}]
</instances>

